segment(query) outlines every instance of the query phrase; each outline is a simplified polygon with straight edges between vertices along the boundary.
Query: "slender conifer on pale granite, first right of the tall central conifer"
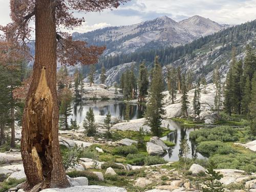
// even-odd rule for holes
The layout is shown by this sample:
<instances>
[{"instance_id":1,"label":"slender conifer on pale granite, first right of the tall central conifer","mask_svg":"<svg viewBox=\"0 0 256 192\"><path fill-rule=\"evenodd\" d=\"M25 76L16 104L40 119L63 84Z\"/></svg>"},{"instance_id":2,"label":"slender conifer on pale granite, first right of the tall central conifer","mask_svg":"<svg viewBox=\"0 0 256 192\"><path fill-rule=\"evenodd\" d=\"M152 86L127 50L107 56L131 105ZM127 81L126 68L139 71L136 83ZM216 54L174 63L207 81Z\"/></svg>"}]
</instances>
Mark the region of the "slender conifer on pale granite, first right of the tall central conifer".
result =
<instances>
[{"instance_id":1,"label":"slender conifer on pale granite, first right of the tall central conifer","mask_svg":"<svg viewBox=\"0 0 256 192\"><path fill-rule=\"evenodd\" d=\"M169 95L172 99L172 104L174 104L177 94L177 73L175 68L170 68L170 70L168 70L167 80Z\"/></svg>"}]
</instances>

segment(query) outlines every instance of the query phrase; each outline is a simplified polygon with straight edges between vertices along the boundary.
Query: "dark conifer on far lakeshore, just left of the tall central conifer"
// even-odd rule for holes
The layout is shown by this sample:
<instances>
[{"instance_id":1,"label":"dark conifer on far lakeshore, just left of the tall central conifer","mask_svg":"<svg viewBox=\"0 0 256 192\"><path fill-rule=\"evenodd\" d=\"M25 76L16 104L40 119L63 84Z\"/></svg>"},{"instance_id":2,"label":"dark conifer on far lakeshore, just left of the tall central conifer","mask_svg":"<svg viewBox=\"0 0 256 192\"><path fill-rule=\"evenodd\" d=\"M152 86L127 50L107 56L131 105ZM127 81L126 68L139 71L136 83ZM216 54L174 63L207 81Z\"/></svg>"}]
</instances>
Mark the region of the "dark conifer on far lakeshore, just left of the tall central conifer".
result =
<instances>
[{"instance_id":1,"label":"dark conifer on far lakeshore, just left of the tall central conifer","mask_svg":"<svg viewBox=\"0 0 256 192\"><path fill-rule=\"evenodd\" d=\"M145 97L147 95L148 90L148 74L147 74L147 68L145 66L145 62L143 61L140 65L139 70L139 79L138 79L138 87L139 87L139 102L145 102Z\"/></svg>"}]
</instances>

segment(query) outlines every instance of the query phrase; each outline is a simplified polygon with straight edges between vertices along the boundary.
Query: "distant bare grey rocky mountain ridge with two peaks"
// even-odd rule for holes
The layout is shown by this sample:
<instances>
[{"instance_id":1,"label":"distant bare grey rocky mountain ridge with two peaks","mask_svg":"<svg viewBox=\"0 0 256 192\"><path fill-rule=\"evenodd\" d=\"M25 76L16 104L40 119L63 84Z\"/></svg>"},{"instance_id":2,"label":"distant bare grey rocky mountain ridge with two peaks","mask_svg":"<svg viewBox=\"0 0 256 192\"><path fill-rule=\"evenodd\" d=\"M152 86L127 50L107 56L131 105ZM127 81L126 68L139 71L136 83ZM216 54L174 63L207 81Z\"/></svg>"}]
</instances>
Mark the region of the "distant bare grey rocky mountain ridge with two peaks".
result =
<instances>
[{"instance_id":1,"label":"distant bare grey rocky mountain ridge with two peaks","mask_svg":"<svg viewBox=\"0 0 256 192\"><path fill-rule=\"evenodd\" d=\"M181 22L162 16L130 26L106 27L82 34L75 32L73 38L87 41L89 45L106 45L105 55L115 55L141 48L176 47L227 27L229 25L198 15Z\"/></svg>"}]
</instances>

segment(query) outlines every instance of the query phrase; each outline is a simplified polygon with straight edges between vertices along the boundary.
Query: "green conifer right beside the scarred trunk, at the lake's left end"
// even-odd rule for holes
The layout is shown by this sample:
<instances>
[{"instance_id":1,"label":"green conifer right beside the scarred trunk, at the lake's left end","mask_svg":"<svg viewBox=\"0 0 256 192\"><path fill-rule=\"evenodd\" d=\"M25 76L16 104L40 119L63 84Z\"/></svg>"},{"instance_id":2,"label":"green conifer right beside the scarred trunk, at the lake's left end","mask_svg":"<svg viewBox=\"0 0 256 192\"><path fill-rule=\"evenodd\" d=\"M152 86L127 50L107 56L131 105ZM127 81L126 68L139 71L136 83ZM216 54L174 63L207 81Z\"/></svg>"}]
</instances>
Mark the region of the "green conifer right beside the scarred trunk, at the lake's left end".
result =
<instances>
[{"instance_id":1,"label":"green conifer right beside the scarred trunk, at the lake's left end","mask_svg":"<svg viewBox=\"0 0 256 192\"><path fill-rule=\"evenodd\" d=\"M59 107L59 114L62 116L60 117L60 127L66 130L69 129L68 117L72 115L71 101L72 101L72 92L67 87L65 87L62 90L62 94L61 94L61 104Z\"/></svg>"}]
</instances>

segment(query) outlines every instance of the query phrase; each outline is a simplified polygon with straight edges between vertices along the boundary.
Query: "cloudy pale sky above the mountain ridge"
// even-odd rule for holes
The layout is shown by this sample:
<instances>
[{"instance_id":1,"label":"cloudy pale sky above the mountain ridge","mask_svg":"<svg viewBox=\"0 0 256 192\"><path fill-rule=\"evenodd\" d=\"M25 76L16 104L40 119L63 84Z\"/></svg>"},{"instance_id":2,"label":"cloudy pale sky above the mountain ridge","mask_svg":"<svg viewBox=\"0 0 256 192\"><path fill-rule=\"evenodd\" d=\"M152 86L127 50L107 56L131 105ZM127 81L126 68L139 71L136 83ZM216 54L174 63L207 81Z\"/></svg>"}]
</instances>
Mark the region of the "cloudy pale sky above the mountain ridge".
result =
<instances>
[{"instance_id":1,"label":"cloudy pale sky above the mountain ridge","mask_svg":"<svg viewBox=\"0 0 256 192\"><path fill-rule=\"evenodd\" d=\"M0 0L0 25L10 22L9 1ZM221 24L241 24L256 19L256 0L132 0L101 13L76 13L86 23L75 29L87 32L108 26L132 25L159 16L176 21L200 15Z\"/></svg>"}]
</instances>

